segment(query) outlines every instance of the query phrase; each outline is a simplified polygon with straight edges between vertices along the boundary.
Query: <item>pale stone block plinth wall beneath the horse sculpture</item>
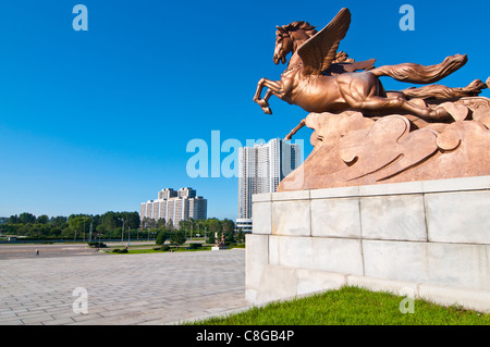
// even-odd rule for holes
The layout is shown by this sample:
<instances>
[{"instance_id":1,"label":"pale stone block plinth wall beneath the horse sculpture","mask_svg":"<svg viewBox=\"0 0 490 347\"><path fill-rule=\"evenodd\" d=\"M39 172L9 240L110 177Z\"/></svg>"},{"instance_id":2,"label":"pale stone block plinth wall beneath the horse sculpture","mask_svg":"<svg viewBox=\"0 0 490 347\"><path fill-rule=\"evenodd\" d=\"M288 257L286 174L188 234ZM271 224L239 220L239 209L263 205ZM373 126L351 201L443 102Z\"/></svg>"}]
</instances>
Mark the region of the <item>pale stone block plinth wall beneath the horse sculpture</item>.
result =
<instances>
[{"instance_id":1,"label":"pale stone block plinth wall beneath the horse sculpture","mask_svg":"<svg viewBox=\"0 0 490 347\"><path fill-rule=\"evenodd\" d=\"M490 309L490 176L254 196L246 297L359 285Z\"/></svg>"}]
</instances>

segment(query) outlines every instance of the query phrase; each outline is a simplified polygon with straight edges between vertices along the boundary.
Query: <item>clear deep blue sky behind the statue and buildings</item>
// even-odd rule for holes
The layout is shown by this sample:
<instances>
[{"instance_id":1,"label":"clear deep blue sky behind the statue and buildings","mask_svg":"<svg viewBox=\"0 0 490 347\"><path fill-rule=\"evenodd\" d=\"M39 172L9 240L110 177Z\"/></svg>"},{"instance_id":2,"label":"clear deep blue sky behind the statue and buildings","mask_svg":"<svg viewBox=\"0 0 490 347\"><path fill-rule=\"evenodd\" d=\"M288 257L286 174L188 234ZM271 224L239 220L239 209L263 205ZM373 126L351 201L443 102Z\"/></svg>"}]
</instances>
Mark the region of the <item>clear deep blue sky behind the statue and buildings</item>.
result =
<instances>
[{"instance_id":1,"label":"clear deep blue sky behind the statue and buildings","mask_svg":"<svg viewBox=\"0 0 490 347\"><path fill-rule=\"evenodd\" d=\"M72 27L77 3L88 32ZM399 27L404 3L415 8L414 32ZM208 216L235 219L237 179L191 178L188 141L210 145L211 131L243 144L286 135L305 111L272 97L270 116L252 101L261 77L284 70L272 62L275 25L320 29L343 7L353 21L340 49L356 60L434 64L467 53L441 84L490 75L489 1L2 1L0 216L138 211L164 187L191 186Z\"/></svg>"}]
</instances>

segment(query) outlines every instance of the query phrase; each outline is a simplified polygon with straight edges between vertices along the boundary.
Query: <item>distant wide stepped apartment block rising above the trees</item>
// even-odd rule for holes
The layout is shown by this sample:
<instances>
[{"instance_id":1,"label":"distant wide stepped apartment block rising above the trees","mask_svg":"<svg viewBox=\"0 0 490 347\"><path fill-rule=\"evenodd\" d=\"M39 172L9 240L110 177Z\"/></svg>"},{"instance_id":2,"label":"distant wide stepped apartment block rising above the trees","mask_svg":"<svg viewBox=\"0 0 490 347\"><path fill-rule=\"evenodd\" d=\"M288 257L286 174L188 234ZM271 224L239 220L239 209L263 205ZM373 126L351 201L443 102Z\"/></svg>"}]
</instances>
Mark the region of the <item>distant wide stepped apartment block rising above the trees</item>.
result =
<instances>
[{"instance_id":1,"label":"distant wide stepped apartment block rising above the trees","mask_svg":"<svg viewBox=\"0 0 490 347\"><path fill-rule=\"evenodd\" d=\"M208 200L196 196L193 188L181 188L177 191L166 188L158 193L158 199L142 202L139 219L149 218L158 221L172 220L173 226L179 227L180 221L206 220Z\"/></svg>"}]
</instances>

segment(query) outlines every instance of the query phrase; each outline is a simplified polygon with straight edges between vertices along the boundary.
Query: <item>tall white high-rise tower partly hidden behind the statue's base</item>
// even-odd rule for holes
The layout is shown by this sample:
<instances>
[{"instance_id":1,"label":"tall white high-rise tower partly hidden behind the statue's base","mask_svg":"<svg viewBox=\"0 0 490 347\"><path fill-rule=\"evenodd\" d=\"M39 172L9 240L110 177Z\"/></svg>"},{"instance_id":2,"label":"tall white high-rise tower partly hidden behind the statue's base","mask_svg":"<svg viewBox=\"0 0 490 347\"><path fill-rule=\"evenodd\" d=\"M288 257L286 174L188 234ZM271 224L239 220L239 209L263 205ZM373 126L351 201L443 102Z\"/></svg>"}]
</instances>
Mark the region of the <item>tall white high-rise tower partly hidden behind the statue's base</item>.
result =
<instances>
[{"instance_id":1,"label":"tall white high-rise tower partly hidden behind the statue's base","mask_svg":"<svg viewBox=\"0 0 490 347\"><path fill-rule=\"evenodd\" d=\"M252 231L252 196L274 193L279 183L301 164L301 147L280 138L238 149L238 218L236 227Z\"/></svg>"}]
</instances>

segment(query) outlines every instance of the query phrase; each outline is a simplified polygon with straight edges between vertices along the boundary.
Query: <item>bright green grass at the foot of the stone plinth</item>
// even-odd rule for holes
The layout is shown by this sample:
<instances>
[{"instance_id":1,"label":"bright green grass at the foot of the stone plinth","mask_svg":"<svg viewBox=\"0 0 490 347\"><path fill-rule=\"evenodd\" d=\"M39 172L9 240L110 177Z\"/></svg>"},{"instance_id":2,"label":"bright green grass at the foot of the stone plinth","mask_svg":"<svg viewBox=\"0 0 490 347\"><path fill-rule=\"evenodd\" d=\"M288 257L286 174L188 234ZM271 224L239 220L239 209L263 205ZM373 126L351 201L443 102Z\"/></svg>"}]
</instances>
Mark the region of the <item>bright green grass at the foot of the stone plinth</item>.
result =
<instances>
[{"instance_id":1,"label":"bright green grass at the foot of the stone plinth","mask_svg":"<svg viewBox=\"0 0 490 347\"><path fill-rule=\"evenodd\" d=\"M247 311L193 322L196 325L490 325L490 314L415 300L403 314L405 297L343 287L310 297L271 302Z\"/></svg>"}]
</instances>

